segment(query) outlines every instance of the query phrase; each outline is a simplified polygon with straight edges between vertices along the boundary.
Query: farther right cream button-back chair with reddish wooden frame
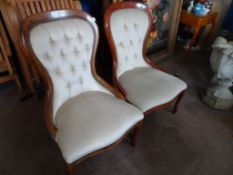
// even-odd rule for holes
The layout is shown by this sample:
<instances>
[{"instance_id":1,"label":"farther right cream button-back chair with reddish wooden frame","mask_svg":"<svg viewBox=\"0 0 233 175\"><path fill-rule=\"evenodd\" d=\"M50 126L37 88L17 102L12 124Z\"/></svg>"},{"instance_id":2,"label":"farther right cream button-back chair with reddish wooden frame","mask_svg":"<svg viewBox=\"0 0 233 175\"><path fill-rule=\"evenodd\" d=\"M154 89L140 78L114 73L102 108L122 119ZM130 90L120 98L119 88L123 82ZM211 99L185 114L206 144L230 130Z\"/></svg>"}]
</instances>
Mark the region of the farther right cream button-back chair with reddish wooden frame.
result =
<instances>
[{"instance_id":1,"label":"farther right cream button-back chair with reddish wooden frame","mask_svg":"<svg viewBox=\"0 0 233 175\"><path fill-rule=\"evenodd\" d=\"M137 2L111 4L105 12L105 32L113 59L113 79L126 99L144 114L172 105L176 112L187 87L146 57L151 15Z\"/></svg>"}]
</instances>

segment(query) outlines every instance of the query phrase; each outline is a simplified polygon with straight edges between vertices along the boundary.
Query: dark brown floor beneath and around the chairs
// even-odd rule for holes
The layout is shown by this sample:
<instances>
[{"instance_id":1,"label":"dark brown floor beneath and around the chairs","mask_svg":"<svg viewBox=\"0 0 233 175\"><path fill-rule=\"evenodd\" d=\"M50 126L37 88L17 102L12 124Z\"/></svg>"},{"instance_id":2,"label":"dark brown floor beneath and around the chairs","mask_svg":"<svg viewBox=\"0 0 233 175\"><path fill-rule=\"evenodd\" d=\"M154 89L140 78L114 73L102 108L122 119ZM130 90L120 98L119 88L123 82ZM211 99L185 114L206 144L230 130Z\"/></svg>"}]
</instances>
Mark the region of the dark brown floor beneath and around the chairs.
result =
<instances>
[{"instance_id":1,"label":"dark brown floor beneath and around the chairs","mask_svg":"<svg viewBox=\"0 0 233 175\"><path fill-rule=\"evenodd\" d=\"M136 147L126 139L83 161L76 174L232 175L233 110L214 110L200 99L212 76L208 60L206 52L177 49L161 61L188 84L179 111L151 113ZM21 102L21 95L13 83L0 86L0 174L66 175L63 158L45 127L43 100Z\"/></svg>"}]
</instances>

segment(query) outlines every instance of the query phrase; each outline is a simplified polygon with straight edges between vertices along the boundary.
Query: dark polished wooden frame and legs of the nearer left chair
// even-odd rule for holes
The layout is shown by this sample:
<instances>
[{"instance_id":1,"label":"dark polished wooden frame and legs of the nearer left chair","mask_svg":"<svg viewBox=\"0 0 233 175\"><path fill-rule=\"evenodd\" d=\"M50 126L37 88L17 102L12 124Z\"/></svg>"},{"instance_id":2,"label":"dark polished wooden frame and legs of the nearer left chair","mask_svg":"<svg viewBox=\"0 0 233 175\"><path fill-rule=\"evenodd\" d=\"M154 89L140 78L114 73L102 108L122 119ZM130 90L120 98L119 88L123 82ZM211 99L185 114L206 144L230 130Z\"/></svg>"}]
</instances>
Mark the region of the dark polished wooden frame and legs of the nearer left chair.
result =
<instances>
[{"instance_id":1,"label":"dark polished wooden frame and legs of the nearer left chair","mask_svg":"<svg viewBox=\"0 0 233 175\"><path fill-rule=\"evenodd\" d=\"M47 70L43 67L43 65L40 63L40 61L37 59L36 55L34 54L32 50L32 46L30 44L30 30L37 24L40 23L46 23L49 21L55 21L55 20L61 20L61 19L67 19L67 18L79 18L86 20L90 26L92 27L92 30L94 32L94 44L93 44L93 52L91 57L91 70L92 75L94 78L105 88L107 88L109 91L111 91L117 98L124 99L123 95L117 91L113 86L108 84L104 79L102 79L96 72L96 50L97 45L99 41L99 33L98 33L98 27L93 22L93 18L89 16L87 13L79 11L79 10L60 10L60 11L51 11L51 12L44 12L40 13L34 16L28 17L27 20L25 20L23 26L22 26L22 33L21 33L21 48L23 51L23 54L25 57L30 58L32 60L32 64L35 66L37 72L39 73L40 77L42 78L42 81L45 82L47 91L46 91L46 102L45 102L45 121L47 128L51 134L51 136L54 138L57 128L53 123L53 114L52 114L52 99L53 99L53 84L50 79L50 76L47 72ZM130 132L132 132L132 145L135 145L136 138L138 135L138 131L142 125L142 121L138 122L136 125L134 125L132 128L130 128L118 141L113 143L112 145L109 145L105 148L99 149L93 153L90 153L81 159L71 163L67 164L67 170L70 175L73 175L75 173L75 165L79 164L81 161L95 156L97 154L100 154L106 150L112 149L114 146L118 145L123 141L123 139L128 136Z\"/></svg>"}]
</instances>

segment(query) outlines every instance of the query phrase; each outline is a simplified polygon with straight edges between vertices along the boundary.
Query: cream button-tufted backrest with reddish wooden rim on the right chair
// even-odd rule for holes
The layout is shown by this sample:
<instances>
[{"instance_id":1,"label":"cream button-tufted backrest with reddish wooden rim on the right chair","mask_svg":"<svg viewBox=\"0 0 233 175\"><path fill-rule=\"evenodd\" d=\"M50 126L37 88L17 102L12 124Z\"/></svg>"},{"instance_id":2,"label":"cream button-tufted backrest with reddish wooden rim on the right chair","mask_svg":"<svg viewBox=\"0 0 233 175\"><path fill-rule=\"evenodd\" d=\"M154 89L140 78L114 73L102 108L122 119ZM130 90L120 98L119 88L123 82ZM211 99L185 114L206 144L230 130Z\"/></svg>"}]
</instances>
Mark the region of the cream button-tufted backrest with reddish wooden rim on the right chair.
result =
<instances>
[{"instance_id":1,"label":"cream button-tufted backrest with reddish wooden rim on the right chair","mask_svg":"<svg viewBox=\"0 0 233 175\"><path fill-rule=\"evenodd\" d=\"M137 3L135 7L132 5L125 7L124 4L135 5L136 3L116 3L105 13L107 30L111 35L110 45L114 45L116 54L117 77L130 69L148 66L144 60L143 47L150 27L150 16L143 4Z\"/></svg>"}]
</instances>

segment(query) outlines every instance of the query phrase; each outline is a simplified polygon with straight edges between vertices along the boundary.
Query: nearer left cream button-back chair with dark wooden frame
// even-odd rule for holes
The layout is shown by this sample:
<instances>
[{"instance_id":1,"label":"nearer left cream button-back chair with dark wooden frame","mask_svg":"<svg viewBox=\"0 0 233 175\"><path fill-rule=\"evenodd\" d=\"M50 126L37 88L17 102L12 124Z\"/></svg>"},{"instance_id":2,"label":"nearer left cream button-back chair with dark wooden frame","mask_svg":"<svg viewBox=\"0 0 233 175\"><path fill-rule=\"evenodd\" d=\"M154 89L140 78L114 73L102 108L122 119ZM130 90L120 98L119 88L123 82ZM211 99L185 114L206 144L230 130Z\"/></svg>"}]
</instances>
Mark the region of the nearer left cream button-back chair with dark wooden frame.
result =
<instances>
[{"instance_id":1,"label":"nearer left cream button-back chair with dark wooden frame","mask_svg":"<svg viewBox=\"0 0 233 175\"><path fill-rule=\"evenodd\" d=\"M21 48L47 85L45 117L70 174L75 164L118 144L143 113L96 73L98 28L82 11L30 16L22 27Z\"/></svg>"}]
</instances>

